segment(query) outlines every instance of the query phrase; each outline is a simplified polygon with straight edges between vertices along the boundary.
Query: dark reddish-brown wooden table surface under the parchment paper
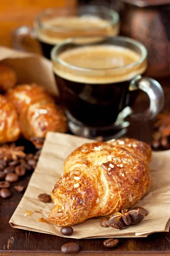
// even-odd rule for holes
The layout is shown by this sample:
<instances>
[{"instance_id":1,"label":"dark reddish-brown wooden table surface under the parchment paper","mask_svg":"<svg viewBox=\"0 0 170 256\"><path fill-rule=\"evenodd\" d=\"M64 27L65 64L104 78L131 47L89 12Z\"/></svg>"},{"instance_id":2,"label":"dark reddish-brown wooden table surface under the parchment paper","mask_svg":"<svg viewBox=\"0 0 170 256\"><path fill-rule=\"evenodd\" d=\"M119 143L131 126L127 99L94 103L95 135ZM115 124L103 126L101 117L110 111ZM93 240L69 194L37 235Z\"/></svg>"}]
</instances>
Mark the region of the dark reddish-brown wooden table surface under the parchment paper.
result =
<instances>
[{"instance_id":1,"label":"dark reddish-brown wooden table surface under the parchment paper","mask_svg":"<svg viewBox=\"0 0 170 256\"><path fill-rule=\"evenodd\" d=\"M164 88L166 105L165 109L170 110L170 79L161 81ZM136 102L136 109L139 105L145 105L146 97L142 94ZM144 140L149 143L153 130L153 121L150 122L131 122L127 132L129 137ZM160 170L161 171L161 170ZM30 177L25 177L20 182L26 186ZM13 196L10 199L0 199L0 256L51 256L63 255L60 247L67 242L75 239L62 238L53 235L30 232L12 228L8 221L16 209L22 193L12 190ZM162 209L164 210L164 209ZM170 255L170 233L154 233L147 238L124 238L119 239L119 245L115 248L103 246L105 239L80 239L76 242L81 250L76 255L119 255L119 256L144 256L149 255Z\"/></svg>"}]
</instances>

